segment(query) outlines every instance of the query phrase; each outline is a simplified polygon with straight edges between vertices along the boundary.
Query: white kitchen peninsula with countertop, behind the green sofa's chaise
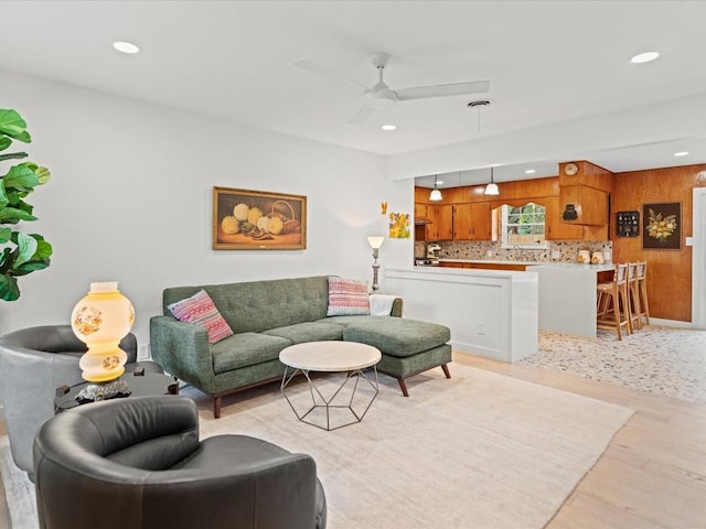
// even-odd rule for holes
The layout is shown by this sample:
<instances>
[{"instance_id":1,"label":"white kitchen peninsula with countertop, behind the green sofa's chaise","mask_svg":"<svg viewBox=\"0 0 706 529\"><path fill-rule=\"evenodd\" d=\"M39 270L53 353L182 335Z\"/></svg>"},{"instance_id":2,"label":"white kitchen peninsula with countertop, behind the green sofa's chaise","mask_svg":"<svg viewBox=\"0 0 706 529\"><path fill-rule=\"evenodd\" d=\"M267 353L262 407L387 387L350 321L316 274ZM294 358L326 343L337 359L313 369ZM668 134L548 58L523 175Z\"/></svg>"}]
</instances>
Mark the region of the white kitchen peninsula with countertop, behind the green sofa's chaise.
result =
<instances>
[{"instance_id":1,"label":"white kitchen peninsula with countertop, behind the green sofa's chaise","mask_svg":"<svg viewBox=\"0 0 706 529\"><path fill-rule=\"evenodd\" d=\"M596 337L596 283L613 268L439 259L411 270L386 270L385 288L405 298L408 317L449 326L454 350L516 361L537 350L538 330Z\"/></svg>"}]
</instances>

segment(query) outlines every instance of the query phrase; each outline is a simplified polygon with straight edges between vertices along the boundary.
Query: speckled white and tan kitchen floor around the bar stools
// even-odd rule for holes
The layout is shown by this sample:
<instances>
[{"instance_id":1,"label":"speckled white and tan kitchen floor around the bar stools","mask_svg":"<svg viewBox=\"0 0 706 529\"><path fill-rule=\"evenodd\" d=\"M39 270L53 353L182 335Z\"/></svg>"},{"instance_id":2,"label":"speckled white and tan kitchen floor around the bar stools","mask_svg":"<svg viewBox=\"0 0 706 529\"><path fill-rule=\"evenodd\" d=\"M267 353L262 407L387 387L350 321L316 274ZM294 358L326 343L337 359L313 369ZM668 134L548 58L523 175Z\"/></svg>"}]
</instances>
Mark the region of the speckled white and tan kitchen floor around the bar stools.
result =
<instances>
[{"instance_id":1,"label":"speckled white and tan kitchen floor around the bar stools","mask_svg":"<svg viewBox=\"0 0 706 529\"><path fill-rule=\"evenodd\" d=\"M539 350L526 366L624 386L638 391L706 402L706 331L649 325L596 338L539 332Z\"/></svg>"}]
</instances>

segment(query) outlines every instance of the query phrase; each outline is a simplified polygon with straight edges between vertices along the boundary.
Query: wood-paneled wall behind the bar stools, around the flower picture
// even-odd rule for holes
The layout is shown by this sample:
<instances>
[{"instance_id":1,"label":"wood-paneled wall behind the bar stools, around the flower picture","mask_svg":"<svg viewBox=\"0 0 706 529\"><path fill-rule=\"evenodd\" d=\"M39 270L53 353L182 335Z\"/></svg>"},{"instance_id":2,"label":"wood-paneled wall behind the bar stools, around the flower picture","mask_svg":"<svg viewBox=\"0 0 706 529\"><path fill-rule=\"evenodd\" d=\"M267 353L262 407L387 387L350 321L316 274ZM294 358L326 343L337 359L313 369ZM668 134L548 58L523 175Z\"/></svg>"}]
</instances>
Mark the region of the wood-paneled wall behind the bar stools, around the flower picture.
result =
<instances>
[{"instance_id":1,"label":"wood-paneled wall behind the bar stools, around the flower picture","mask_svg":"<svg viewBox=\"0 0 706 529\"><path fill-rule=\"evenodd\" d=\"M648 261L650 315L665 320L692 321L693 188L705 185L699 172L706 164L616 173L612 195L613 262ZM682 203L682 247L678 250L642 249L642 205ZM616 237L617 212L640 212L640 237Z\"/></svg>"}]
</instances>

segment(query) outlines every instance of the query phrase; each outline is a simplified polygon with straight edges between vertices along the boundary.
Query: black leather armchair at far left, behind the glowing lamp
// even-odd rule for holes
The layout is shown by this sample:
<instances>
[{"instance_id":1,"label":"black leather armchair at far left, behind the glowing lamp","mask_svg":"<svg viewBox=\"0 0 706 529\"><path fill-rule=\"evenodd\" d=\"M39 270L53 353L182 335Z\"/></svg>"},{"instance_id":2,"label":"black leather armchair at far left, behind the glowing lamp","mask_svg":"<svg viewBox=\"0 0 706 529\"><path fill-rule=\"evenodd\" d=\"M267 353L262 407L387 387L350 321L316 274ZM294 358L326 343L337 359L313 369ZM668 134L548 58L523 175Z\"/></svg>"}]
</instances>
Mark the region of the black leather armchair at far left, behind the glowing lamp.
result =
<instances>
[{"instance_id":1,"label":"black leather armchair at far left, behind the glowing lamp","mask_svg":"<svg viewBox=\"0 0 706 529\"><path fill-rule=\"evenodd\" d=\"M137 338L128 334L120 348L128 355L126 373L136 367L162 373L153 361L137 361ZM44 421L54 417L58 386L83 382L78 360L86 352L71 325L42 325L0 337L0 389L14 464L33 479L32 443Z\"/></svg>"}]
</instances>

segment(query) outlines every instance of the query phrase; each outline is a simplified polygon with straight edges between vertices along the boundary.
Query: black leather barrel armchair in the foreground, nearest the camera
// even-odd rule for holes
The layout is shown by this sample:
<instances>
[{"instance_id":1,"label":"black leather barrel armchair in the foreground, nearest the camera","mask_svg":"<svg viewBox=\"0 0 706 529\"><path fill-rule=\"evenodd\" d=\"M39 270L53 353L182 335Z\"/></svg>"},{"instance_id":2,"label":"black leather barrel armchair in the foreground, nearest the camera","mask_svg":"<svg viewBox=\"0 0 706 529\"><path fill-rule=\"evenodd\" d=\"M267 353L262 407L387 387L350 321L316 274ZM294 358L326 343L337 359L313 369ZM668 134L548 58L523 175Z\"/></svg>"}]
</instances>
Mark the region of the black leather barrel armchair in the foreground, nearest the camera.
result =
<instances>
[{"instance_id":1,"label":"black leather barrel armchair in the foreground, nearest the camera","mask_svg":"<svg viewBox=\"0 0 706 529\"><path fill-rule=\"evenodd\" d=\"M45 422L34 441L41 528L325 527L313 458L245 435L199 441L186 397L116 399Z\"/></svg>"}]
</instances>

